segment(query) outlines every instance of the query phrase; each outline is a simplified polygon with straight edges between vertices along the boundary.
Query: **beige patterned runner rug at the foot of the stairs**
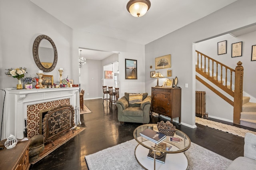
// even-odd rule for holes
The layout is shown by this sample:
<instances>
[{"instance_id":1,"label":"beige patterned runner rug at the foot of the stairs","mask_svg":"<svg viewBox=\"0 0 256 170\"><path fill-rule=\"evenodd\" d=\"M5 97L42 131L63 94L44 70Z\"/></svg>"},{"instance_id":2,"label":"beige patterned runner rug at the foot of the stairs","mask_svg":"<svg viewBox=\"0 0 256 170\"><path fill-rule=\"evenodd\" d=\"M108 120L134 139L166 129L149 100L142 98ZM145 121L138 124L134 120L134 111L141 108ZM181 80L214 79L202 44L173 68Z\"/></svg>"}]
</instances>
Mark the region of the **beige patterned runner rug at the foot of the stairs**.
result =
<instances>
[{"instance_id":1,"label":"beige patterned runner rug at the foot of the stairs","mask_svg":"<svg viewBox=\"0 0 256 170\"><path fill-rule=\"evenodd\" d=\"M203 119L200 117L196 117L196 123L198 123L200 125L207 126L207 127L215 128L218 130L222 130L224 132L228 132L228 133L231 133L231 134L234 134L237 136L241 136L241 137L244 137L247 132L256 134L256 132L253 132L251 130L234 127L234 126L226 125L226 124L219 123L219 122L210 121L210 120Z\"/></svg>"}]
</instances>

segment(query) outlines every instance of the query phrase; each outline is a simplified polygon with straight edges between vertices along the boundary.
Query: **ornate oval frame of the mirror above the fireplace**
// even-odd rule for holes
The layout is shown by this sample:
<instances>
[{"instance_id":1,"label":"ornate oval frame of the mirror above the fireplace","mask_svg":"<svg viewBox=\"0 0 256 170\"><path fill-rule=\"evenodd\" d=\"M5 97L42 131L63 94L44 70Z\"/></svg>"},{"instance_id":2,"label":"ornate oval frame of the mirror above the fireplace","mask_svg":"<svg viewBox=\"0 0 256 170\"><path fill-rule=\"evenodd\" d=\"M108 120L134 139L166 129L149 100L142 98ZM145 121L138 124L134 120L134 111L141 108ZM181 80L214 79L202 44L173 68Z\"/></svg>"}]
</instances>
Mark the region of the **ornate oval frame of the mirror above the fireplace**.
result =
<instances>
[{"instance_id":1,"label":"ornate oval frame of the mirror above the fireplace","mask_svg":"<svg viewBox=\"0 0 256 170\"><path fill-rule=\"evenodd\" d=\"M52 44L52 48L53 48L53 51L54 51L54 61L52 63L52 66L49 67L49 68L44 67L44 65L42 65L42 62L39 59L38 48L39 48L39 44L42 40L48 40ZM56 67L57 60L58 60L57 49L56 49L56 46L55 46L54 42L52 41L52 39L50 37L46 36L46 35L40 35L34 41L33 56L34 56L34 60L36 62L36 65L38 66L38 68L41 69L44 72L50 72Z\"/></svg>"}]
</instances>

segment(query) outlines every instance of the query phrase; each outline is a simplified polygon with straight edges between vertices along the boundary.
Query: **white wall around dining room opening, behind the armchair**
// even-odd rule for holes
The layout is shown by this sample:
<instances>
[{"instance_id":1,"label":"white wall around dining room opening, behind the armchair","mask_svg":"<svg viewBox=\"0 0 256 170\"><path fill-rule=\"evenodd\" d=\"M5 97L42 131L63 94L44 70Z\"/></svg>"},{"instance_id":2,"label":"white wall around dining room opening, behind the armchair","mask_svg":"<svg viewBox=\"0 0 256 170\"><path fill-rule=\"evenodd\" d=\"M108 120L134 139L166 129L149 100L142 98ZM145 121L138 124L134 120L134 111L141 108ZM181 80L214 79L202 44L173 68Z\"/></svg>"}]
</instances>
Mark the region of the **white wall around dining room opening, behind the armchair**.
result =
<instances>
[{"instance_id":1,"label":"white wall around dining room opening, behind the armchair","mask_svg":"<svg viewBox=\"0 0 256 170\"><path fill-rule=\"evenodd\" d=\"M114 38L94 35L81 30L73 30L73 54L72 57L78 56L78 47L96 49L119 53L119 86L120 96L125 92L144 93L145 92L145 48L142 44L126 42ZM138 63L138 79L125 79L125 59L136 59ZM72 62L72 67L77 65L76 61ZM73 70L72 75L78 75L78 69ZM75 80L74 80L75 81ZM77 80L78 81L78 80ZM102 91L102 85L99 85L98 91ZM103 95L102 95L103 96Z\"/></svg>"}]
</instances>

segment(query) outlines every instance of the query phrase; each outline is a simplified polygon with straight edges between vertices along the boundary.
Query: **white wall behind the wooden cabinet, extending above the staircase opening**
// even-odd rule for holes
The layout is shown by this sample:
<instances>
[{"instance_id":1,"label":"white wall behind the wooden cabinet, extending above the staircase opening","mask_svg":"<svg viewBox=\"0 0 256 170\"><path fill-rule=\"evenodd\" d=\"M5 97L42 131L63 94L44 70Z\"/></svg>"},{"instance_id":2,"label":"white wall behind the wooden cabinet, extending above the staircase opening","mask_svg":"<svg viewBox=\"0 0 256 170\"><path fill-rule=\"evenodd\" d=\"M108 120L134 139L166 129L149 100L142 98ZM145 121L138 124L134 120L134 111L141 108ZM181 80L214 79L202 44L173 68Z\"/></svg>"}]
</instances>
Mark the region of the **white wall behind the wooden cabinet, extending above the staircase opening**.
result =
<instances>
[{"instance_id":1,"label":"white wall behind the wooden cabinet, extending above the staircase opening","mask_svg":"<svg viewBox=\"0 0 256 170\"><path fill-rule=\"evenodd\" d=\"M154 69L154 59L171 54L172 75L178 77L178 86L182 88L181 121L188 126L194 126L196 81L192 44L256 23L255 7L256 1L238 0L217 12L148 43L145 47L145 70L148 75L146 76L146 91L150 91L151 87L155 85L156 80L149 77L150 71ZM150 65L153 65L153 69L149 68ZM159 71L164 73L166 69ZM164 73L164 76L166 74ZM185 88L185 83L188 83L188 88Z\"/></svg>"}]
</instances>

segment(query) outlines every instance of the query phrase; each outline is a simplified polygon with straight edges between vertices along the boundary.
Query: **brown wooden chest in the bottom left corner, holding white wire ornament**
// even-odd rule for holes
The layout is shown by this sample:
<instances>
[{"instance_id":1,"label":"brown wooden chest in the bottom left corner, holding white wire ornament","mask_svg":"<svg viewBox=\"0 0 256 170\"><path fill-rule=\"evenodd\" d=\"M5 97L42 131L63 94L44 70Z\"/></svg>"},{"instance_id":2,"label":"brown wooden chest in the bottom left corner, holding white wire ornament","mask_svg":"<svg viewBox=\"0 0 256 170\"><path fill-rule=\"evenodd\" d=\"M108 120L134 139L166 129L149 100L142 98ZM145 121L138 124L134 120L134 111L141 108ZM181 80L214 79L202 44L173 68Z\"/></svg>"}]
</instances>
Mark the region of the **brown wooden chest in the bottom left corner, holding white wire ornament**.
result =
<instances>
[{"instance_id":1,"label":"brown wooden chest in the bottom left corner, holding white wire ornament","mask_svg":"<svg viewBox=\"0 0 256 170\"><path fill-rule=\"evenodd\" d=\"M4 146L5 140L0 142L0 169L2 170L28 170L29 163L29 144L31 140L18 142L14 148L7 149Z\"/></svg>"}]
</instances>

